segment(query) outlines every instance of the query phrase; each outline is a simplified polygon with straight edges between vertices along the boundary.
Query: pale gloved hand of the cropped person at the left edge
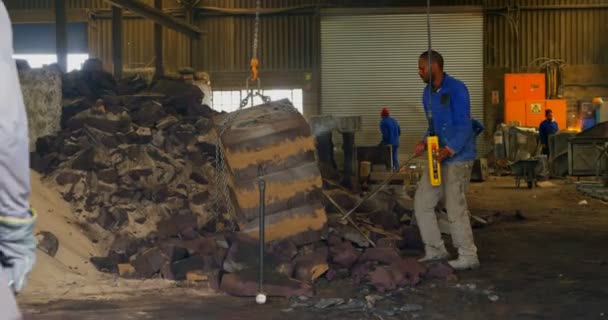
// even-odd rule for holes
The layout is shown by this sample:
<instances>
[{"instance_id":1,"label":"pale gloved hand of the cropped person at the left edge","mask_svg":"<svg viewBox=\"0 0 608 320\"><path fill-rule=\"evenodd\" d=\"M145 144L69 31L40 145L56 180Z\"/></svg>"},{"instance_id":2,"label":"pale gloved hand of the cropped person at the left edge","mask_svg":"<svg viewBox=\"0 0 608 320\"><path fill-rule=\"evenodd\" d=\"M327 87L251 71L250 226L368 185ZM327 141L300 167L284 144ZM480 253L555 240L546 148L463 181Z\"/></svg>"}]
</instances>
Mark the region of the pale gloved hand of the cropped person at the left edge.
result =
<instances>
[{"instance_id":1,"label":"pale gloved hand of the cropped person at the left edge","mask_svg":"<svg viewBox=\"0 0 608 320\"><path fill-rule=\"evenodd\" d=\"M0 216L1 270L8 279L0 285L11 287L14 293L23 290L36 261L35 220L35 214L23 219Z\"/></svg>"}]
</instances>

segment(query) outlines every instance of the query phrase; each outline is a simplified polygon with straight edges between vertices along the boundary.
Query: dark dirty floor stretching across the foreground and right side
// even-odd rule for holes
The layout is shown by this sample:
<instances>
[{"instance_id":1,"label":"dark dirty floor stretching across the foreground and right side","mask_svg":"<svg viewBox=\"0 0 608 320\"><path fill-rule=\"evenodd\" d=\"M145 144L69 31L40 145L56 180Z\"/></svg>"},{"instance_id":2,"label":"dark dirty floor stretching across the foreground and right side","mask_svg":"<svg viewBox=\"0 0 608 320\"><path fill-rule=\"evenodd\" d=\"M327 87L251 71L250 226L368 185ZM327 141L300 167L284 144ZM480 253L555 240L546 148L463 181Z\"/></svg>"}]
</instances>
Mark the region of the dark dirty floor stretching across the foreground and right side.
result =
<instances>
[{"instance_id":1,"label":"dark dirty floor stretching across the foreground and right side","mask_svg":"<svg viewBox=\"0 0 608 320\"><path fill-rule=\"evenodd\" d=\"M457 282L424 282L395 293L397 302L416 303L417 312L395 317L339 310L289 308L271 299L223 295L201 297L192 289L141 293L119 301L58 301L23 305L27 319L608 319L608 204L586 198L573 184L515 189L510 177L472 184L473 212L504 217L475 230L482 268L458 274ZM579 205L586 199L588 205ZM515 219L520 210L525 220ZM321 284L322 297L356 295L349 281ZM490 301L490 290L498 300ZM373 292L372 292L373 293Z\"/></svg>"}]
</instances>

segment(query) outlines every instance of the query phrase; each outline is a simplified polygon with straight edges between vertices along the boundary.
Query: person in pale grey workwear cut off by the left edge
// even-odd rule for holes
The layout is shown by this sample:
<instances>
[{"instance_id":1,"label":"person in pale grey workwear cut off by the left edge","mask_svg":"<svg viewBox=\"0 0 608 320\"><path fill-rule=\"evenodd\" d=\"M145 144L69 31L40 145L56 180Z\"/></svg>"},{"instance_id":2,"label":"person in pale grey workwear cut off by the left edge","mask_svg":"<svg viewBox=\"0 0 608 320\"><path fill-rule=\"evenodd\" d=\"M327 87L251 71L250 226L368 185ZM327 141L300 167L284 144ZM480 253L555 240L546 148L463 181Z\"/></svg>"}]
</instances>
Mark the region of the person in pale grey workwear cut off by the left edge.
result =
<instances>
[{"instance_id":1,"label":"person in pale grey workwear cut off by the left edge","mask_svg":"<svg viewBox=\"0 0 608 320\"><path fill-rule=\"evenodd\" d=\"M13 59L11 22L0 1L0 319L21 314L14 295L25 286L36 258L30 210L28 123Z\"/></svg>"}]
</instances>

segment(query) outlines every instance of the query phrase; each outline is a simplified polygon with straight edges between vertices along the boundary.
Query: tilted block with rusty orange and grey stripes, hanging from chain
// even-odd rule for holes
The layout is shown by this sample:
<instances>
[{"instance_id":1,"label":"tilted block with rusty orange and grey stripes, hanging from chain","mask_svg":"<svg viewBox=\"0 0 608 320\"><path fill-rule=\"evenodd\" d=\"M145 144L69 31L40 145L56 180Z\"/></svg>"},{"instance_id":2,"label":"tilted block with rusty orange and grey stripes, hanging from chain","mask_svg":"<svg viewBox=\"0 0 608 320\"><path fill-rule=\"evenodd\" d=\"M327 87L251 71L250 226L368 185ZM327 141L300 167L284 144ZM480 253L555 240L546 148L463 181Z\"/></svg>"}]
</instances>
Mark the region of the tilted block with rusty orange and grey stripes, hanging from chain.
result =
<instances>
[{"instance_id":1,"label":"tilted block with rusty orange and grey stripes, hanging from chain","mask_svg":"<svg viewBox=\"0 0 608 320\"><path fill-rule=\"evenodd\" d=\"M321 239L327 229L323 180L315 142L304 117L287 99L242 109L220 137L234 218L258 236L259 172L266 182L265 240L298 245ZM221 124L230 114L221 114Z\"/></svg>"}]
</instances>

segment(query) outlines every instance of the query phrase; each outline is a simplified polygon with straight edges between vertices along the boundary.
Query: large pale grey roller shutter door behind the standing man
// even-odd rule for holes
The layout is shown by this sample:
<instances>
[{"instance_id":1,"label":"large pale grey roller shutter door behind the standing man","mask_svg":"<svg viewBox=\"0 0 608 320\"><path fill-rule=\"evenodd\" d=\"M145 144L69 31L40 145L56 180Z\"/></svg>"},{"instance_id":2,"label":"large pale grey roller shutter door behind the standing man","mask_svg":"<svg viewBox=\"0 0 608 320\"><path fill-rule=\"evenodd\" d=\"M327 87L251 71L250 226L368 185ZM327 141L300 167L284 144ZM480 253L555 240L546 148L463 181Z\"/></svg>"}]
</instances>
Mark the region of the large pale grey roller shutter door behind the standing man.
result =
<instances>
[{"instance_id":1,"label":"large pale grey roller shutter door behind the standing man","mask_svg":"<svg viewBox=\"0 0 608 320\"><path fill-rule=\"evenodd\" d=\"M321 18L321 112L362 116L357 143L375 145L380 110L388 107L401 124L400 153L405 155L428 127L418 76L418 56L427 48L426 15L367 12ZM445 54L446 72L467 84L471 116L482 120L482 13L433 14L431 21L437 24L433 45Z\"/></svg>"}]
</instances>

